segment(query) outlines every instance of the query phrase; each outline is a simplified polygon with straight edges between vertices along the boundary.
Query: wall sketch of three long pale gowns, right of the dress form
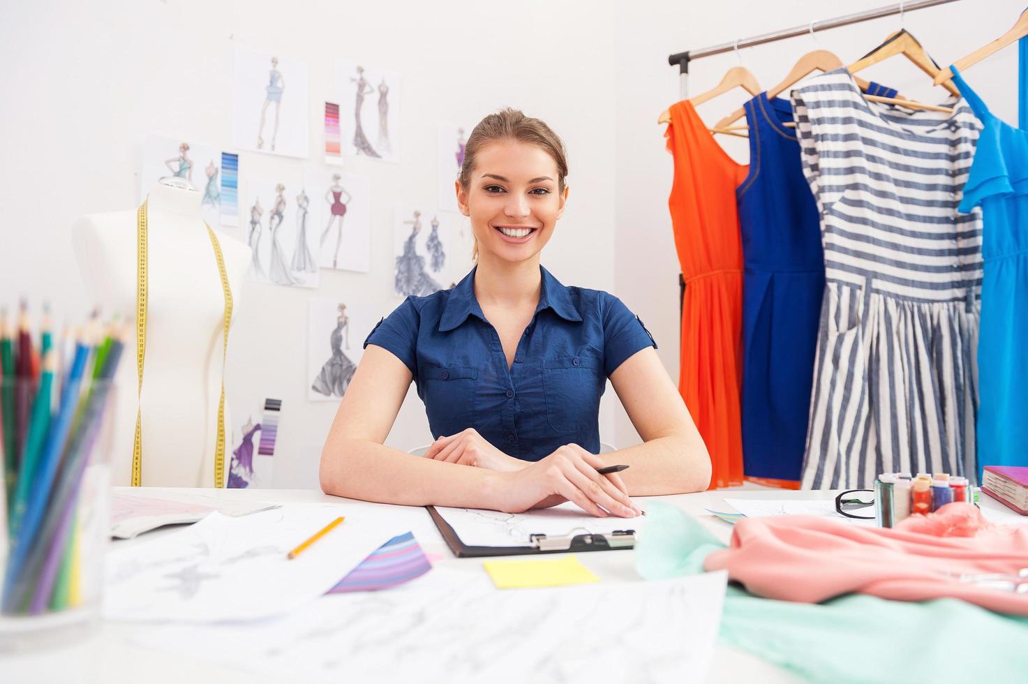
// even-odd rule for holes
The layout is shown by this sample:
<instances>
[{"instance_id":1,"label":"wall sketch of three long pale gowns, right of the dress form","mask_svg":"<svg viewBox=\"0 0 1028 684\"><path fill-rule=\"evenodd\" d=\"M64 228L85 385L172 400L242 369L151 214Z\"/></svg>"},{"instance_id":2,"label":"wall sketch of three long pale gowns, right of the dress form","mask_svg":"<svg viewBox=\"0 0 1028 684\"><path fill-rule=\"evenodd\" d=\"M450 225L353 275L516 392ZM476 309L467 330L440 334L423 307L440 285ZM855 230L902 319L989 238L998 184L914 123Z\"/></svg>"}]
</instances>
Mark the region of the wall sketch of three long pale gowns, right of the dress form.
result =
<instances>
[{"instance_id":1,"label":"wall sketch of three long pale gowns, right of the dress form","mask_svg":"<svg viewBox=\"0 0 1028 684\"><path fill-rule=\"evenodd\" d=\"M274 285L318 287L305 184L249 179L245 203L246 241L253 250L250 278Z\"/></svg>"}]
</instances>

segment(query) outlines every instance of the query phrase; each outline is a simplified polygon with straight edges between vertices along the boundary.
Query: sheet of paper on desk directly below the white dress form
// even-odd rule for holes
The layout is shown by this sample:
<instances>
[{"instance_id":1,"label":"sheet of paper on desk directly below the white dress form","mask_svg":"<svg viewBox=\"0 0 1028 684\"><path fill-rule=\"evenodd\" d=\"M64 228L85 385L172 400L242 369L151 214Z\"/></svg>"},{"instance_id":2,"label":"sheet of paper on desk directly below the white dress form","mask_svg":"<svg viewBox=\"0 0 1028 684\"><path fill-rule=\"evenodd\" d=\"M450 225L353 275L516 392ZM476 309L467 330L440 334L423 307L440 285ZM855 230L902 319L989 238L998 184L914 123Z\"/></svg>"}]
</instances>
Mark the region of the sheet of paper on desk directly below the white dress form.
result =
<instances>
[{"instance_id":1,"label":"sheet of paper on desk directly below the white dress form","mask_svg":"<svg viewBox=\"0 0 1028 684\"><path fill-rule=\"evenodd\" d=\"M278 508L278 505L258 501L221 501L216 503L209 500L208 503L200 503L188 498L172 501L116 492L111 501L111 536L118 539L132 539L136 535L156 530L166 525L195 523L213 511L235 517L271 508Z\"/></svg>"}]
</instances>

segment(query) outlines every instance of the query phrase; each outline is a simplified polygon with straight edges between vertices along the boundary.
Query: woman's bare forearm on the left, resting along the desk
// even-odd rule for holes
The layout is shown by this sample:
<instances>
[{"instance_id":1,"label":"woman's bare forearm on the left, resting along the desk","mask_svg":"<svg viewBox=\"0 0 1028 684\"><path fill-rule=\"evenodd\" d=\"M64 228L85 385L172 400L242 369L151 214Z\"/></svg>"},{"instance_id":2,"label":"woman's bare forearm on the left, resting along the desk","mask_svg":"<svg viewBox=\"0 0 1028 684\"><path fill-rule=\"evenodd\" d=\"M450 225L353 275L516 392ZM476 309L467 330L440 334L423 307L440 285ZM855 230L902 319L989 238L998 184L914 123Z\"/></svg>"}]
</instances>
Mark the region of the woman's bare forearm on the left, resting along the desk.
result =
<instances>
[{"instance_id":1,"label":"woman's bare forearm on the left, resting along the desk","mask_svg":"<svg viewBox=\"0 0 1028 684\"><path fill-rule=\"evenodd\" d=\"M325 494L404 506L500 509L497 473L443 463L366 439L329 440L322 452Z\"/></svg>"}]
</instances>

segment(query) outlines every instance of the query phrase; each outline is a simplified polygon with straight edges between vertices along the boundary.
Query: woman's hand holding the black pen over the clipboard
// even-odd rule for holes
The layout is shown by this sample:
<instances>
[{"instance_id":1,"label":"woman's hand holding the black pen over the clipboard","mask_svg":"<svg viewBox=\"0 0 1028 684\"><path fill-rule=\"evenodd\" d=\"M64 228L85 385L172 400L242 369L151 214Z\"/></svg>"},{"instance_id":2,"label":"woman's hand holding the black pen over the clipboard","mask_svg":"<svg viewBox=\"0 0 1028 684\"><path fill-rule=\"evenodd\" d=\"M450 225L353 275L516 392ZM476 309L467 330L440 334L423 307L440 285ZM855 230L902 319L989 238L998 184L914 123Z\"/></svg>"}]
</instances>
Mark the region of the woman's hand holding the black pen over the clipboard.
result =
<instances>
[{"instance_id":1,"label":"woman's hand holding the black pen over the clipboard","mask_svg":"<svg viewBox=\"0 0 1028 684\"><path fill-rule=\"evenodd\" d=\"M571 501L597 517L640 514L620 477L614 475L618 487L609 476L596 472L604 465L602 459L578 444L565 444L542 461L500 473L500 510L521 513Z\"/></svg>"}]
</instances>

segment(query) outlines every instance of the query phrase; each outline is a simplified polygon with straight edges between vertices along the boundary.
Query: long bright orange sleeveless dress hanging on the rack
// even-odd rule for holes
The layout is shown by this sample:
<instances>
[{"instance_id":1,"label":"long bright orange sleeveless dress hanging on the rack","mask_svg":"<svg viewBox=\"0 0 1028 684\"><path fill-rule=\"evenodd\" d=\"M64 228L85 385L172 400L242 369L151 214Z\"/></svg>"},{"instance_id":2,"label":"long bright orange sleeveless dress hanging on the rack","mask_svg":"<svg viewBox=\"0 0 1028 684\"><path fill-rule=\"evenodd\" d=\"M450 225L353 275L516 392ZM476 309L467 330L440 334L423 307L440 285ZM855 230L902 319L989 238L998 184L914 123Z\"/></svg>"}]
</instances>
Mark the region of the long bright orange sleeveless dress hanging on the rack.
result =
<instances>
[{"instance_id":1,"label":"long bright orange sleeveless dress hanging on the rack","mask_svg":"<svg viewBox=\"0 0 1028 684\"><path fill-rule=\"evenodd\" d=\"M688 100L664 136L674 156L668 207L686 281L678 392L710 454L710 487L742 483L742 240L735 188L748 167L721 148Z\"/></svg>"}]
</instances>

